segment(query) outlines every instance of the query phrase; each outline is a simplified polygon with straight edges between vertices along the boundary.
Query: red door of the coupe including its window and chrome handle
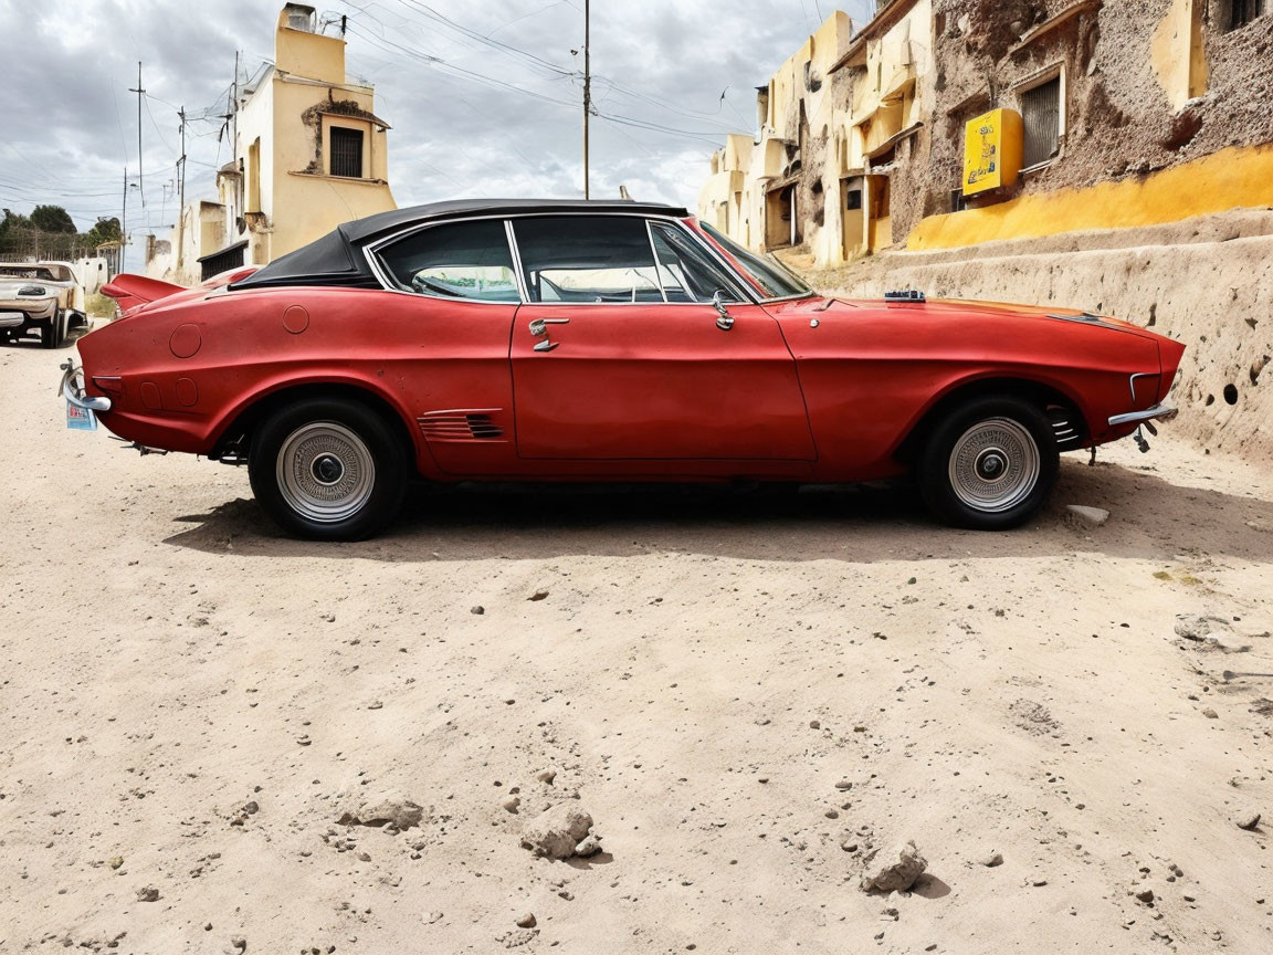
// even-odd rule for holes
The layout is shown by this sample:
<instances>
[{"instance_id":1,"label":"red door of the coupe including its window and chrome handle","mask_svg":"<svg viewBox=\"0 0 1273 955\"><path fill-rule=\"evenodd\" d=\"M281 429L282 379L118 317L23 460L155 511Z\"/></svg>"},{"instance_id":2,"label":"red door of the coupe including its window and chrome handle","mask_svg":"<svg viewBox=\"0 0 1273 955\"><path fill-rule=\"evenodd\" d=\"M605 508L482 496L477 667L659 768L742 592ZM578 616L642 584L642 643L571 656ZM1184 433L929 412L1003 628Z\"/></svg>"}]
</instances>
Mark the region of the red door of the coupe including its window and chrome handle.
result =
<instances>
[{"instance_id":1,"label":"red door of the coupe including its window and chrome handle","mask_svg":"<svg viewBox=\"0 0 1273 955\"><path fill-rule=\"evenodd\" d=\"M513 233L528 297L510 346L521 457L807 469L782 330L684 227L561 215L514 219Z\"/></svg>"}]
</instances>

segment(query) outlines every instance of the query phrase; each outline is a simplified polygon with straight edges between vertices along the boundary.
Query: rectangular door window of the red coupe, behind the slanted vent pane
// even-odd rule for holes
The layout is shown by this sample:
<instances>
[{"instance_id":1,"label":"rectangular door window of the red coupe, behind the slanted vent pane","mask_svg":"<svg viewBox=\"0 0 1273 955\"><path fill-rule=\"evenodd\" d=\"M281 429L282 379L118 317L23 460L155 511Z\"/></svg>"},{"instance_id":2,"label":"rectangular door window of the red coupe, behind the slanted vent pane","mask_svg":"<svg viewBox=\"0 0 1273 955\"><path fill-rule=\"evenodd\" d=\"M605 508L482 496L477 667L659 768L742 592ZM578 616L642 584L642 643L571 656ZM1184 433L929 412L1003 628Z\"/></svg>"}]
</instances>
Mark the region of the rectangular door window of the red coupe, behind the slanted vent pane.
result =
<instances>
[{"instance_id":1,"label":"rectangular door window of the red coupe, behind the slanted vent pane","mask_svg":"<svg viewBox=\"0 0 1273 955\"><path fill-rule=\"evenodd\" d=\"M532 302L662 302L645 222L635 215L513 220Z\"/></svg>"}]
</instances>

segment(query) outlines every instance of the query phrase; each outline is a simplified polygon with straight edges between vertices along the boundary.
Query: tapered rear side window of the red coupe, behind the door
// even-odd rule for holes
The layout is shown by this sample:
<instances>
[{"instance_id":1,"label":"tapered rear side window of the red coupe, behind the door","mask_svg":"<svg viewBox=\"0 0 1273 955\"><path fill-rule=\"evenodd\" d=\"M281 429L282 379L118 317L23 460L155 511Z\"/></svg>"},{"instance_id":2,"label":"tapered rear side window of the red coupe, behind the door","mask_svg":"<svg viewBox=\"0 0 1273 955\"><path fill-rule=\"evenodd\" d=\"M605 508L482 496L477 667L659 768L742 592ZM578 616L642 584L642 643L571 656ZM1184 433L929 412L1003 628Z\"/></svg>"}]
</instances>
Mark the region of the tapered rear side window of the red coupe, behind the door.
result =
<instances>
[{"instance_id":1,"label":"tapered rear side window of the red coupe, behind the door","mask_svg":"<svg viewBox=\"0 0 1273 955\"><path fill-rule=\"evenodd\" d=\"M434 298L519 302L503 219L432 225L379 251L404 289Z\"/></svg>"}]
</instances>

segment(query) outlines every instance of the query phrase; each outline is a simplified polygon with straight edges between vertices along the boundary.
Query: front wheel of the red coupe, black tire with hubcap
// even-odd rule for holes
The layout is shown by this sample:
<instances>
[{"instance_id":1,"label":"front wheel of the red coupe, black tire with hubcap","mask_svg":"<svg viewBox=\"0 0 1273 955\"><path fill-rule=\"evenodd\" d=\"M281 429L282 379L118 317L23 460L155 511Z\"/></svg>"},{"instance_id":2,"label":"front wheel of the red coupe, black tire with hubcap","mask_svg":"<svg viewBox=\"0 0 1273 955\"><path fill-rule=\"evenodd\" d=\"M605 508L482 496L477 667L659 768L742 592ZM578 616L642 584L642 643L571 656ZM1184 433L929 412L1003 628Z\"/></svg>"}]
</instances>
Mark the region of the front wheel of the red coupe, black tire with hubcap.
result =
<instances>
[{"instance_id":1,"label":"front wheel of the red coupe, black tire with hubcap","mask_svg":"<svg viewBox=\"0 0 1273 955\"><path fill-rule=\"evenodd\" d=\"M919 457L919 489L939 521L1002 531L1043 507L1059 466L1044 409L1012 395L988 395L936 423Z\"/></svg>"}]
</instances>

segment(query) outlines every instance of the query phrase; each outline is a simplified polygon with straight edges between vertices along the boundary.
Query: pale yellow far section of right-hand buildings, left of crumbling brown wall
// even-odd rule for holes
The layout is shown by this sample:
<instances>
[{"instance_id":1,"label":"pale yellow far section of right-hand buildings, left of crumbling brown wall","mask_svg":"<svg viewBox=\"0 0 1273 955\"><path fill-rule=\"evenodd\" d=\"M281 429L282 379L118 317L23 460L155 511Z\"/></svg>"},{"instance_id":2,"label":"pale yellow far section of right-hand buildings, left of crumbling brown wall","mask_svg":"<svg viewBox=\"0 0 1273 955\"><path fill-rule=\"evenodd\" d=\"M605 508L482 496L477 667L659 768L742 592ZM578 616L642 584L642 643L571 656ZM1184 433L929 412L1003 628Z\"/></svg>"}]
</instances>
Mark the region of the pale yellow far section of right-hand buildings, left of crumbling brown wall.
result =
<instances>
[{"instance_id":1,"label":"pale yellow far section of right-hand buildings, left of crumbling brown wall","mask_svg":"<svg viewBox=\"0 0 1273 955\"><path fill-rule=\"evenodd\" d=\"M899 0L857 33L831 14L759 88L759 135L712 157L700 215L752 248L807 246L819 266L890 244L877 167L922 126L931 32L931 0Z\"/></svg>"}]
</instances>

